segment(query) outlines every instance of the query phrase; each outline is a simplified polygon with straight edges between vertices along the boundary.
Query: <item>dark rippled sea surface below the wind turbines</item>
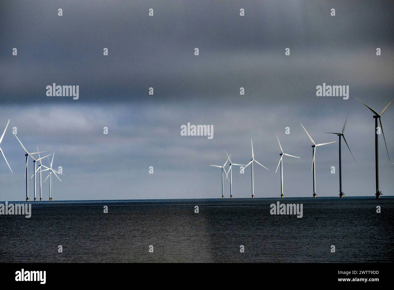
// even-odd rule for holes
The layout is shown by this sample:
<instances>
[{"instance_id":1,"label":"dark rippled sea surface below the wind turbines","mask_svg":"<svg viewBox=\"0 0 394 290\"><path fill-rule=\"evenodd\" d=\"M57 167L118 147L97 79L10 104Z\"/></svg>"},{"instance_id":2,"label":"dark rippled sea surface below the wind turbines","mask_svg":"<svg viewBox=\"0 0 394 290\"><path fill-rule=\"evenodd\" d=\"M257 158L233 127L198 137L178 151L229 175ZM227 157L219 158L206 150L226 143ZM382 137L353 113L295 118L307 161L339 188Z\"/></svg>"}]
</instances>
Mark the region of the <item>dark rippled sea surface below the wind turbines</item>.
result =
<instances>
[{"instance_id":1,"label":"dark rippled sea surface below the wind turbines","mask_svg":"<svg viewBox=\"0 0 394 290\"><path fill-rule=\"evenodd\" d=\"M271 215L270 204L277 201L302 203L303 217ZM1 262L392 262L394 258L393 196L30 203L31 218L0 215ZM378 205L381 213L376 213ZM63 253L58 253L58 245Z\"/></svg>"}]
</instances>

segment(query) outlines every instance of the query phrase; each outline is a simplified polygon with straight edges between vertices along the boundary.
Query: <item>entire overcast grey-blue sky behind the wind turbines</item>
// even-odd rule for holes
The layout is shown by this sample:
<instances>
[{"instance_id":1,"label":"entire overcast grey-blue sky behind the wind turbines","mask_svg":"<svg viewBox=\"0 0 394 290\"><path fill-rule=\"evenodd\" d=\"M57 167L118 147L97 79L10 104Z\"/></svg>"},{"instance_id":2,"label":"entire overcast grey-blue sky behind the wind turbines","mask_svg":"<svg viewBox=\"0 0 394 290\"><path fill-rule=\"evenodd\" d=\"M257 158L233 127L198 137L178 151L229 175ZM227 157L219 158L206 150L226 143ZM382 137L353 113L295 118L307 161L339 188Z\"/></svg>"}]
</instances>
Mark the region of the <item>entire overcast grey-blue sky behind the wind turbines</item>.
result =
<instances>
[{"instance_id":1,"label":"entire overcast grey-blue sky behind the wind turbines","mask_svg":"<svg viewBox=\"0 0 394 290\"><path fill-rule=\"evenodd\" d=\"M11 121L0 147L14 174L1 157L0 200L26 194L13 127L29 151L56 152L54 168L66 176L54 179L54 200L219 198L220 169L209 165L223 165L225 149L246 164L251 138L269 168L255 167L255 195L279 197L275 133L285 153L301 157L284 160L285 196L312 196L312 148L300 122L316 142L337 141L316 151L316 191L336 196L338 137L324 132L341 131L348 113L358 165L342 144L343 191L374 196L374 119L354 97L379 112L394 97L393 11L392 1L4 2L0 133ZM46 96L52 83L78 85L79 99ZM349 99L317 97L323 83L348 85ZM379 136L383 197L393 195L393 120L391 105L382 118L391 162ZM181 136L188 122L213 125L214 138ZM251 196L250 174L234 167L234 197ZM48 180L43 190L48 200Z\"/></svg>"}]
</instances>

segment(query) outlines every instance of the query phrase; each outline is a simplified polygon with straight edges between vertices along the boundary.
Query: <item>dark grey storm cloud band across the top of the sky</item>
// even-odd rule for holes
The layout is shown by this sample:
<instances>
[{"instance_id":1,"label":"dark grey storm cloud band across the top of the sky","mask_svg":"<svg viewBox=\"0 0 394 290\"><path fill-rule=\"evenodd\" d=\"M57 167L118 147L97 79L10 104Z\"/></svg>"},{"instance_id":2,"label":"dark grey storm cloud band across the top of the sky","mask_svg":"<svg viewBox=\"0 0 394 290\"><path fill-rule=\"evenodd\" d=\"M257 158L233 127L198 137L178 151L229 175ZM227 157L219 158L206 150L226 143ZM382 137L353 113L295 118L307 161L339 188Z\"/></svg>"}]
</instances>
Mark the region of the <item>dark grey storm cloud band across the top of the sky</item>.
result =
<instances>
[{"instance_id":1,"label":"dark grey storm cloud band across the top of the sky","mask_svg":"<svg viewBox=\"0 0 394 290\"><path fill-rule=\"evenodd\" d=\"M323 81L392 88L392 3L310 1L7 2L1 13L2 99L80 101L307 99ZM63 16L57 9L63 9ZM154 17L148 9L154 8ZM245 17L239 9L245 9ZM329 15L336 8L336 16ZM17 47L18 56L11 50ZM109 55L102 50L108 47ZM198 47L199 56L193 55ZM291 57L284 49L291 49ZM385 60L377 60L381 47ZM155 89L149 97L148 88ZM353 89L354 90L354 89Z\"/></svg>"}]
</instances>

